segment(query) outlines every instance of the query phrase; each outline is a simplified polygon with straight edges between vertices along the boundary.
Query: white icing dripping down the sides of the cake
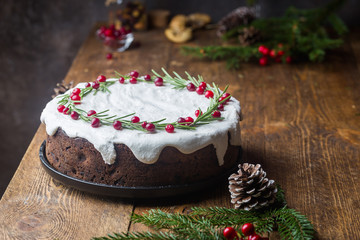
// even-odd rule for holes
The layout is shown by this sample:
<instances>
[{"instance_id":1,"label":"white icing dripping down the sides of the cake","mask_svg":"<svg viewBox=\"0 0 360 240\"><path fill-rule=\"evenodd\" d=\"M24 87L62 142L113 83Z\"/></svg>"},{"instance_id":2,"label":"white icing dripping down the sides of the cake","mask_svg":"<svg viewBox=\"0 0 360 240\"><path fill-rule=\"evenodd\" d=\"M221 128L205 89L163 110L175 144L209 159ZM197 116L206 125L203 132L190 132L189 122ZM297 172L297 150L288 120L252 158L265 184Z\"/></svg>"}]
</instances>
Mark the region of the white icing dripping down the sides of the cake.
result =
<instances>
[{"instance_id":1,"label":"white icing dripping down the sides of the cake","mask_svg":"<svg viewBox=\"0 0 360 240\"><path fill-rule=\"evenodd\" d=\"M114 79L109 79L114 80ZM85 83L76 87L84 88ZM199 107L206 111L210 100L204 95L189 92L186 89L175 90L171 85L156 87L153 83L138 82L137 84L120 84L116 82L109 87L111 93L98 92L84 97L81 109L101 112L109 109L109 115L124 116L136 113L141 121L156 121L166 118L165 122L175 122L179 117L191 116ZM71 90L69 90L71 91ZM87 139L101 153L107 164L115 161L115 143L128 146L135 157L143 163L151 164L157 161L162 149L172 146L185 154L189 154L210 144L216 149L219 165L224 163L224 155L228 147L228 132L230 143L240 145L240 103L231 98L222 111L222 121L198 126L196 130L175 129L174 133L157 130L146 133L137 130L115 130L112 126L102 125L92 128L83 120L73 120L69 115L57 111L57 102L50 101L41 114L41 121L46 124L46 132L55 134L61 127L69 137Z\"/></svg>"}]
</instances>

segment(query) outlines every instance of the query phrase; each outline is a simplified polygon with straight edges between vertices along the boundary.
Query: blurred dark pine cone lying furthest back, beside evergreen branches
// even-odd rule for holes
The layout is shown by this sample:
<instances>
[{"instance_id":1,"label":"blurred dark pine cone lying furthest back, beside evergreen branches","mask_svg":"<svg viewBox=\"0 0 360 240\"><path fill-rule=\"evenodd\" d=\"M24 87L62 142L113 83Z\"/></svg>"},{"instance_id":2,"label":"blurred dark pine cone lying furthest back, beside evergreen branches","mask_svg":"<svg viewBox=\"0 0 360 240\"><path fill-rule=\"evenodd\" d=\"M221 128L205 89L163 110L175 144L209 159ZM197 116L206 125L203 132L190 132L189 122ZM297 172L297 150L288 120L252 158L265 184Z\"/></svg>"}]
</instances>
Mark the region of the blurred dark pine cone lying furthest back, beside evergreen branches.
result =
<instances>
[{"instance_id":1,"label":"blurred dark pine cone lying furthest back, beside evergreen branches","mask_svg":"<svg viewBox=\"0 0 360 240\"><path fill-rule=\"evenodd\" d=\"M230 29L234 29L240 25L250 24L255 18L254 8L239 7L220 20L216 34L221 37Z\"/></svg>"}]
</instances>

